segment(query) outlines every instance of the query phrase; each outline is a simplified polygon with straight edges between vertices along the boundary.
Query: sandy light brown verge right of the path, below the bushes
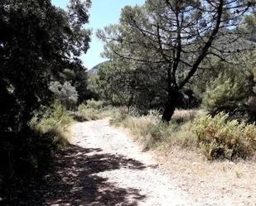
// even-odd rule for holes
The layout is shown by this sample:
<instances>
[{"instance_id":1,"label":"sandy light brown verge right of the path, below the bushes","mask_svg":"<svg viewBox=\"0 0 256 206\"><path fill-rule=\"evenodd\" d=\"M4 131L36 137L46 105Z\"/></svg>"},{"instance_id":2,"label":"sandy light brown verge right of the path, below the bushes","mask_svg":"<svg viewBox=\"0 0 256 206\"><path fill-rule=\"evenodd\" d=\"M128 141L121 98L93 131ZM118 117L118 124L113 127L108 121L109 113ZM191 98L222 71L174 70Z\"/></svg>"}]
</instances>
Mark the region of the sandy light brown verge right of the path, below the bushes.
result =
<instances>
[{"instance_id":1,"label":"sandy light brown verge right of the path, below the bushes","mask_svg":"<svg viewBox=\"0 0 256 206\"><path fill-rule=\"evenodd\" d=\"M207 161L195 151L171 148L157 156L171 180L199 205L256 205L256 162Z\"/></svg>"}]
</instances>

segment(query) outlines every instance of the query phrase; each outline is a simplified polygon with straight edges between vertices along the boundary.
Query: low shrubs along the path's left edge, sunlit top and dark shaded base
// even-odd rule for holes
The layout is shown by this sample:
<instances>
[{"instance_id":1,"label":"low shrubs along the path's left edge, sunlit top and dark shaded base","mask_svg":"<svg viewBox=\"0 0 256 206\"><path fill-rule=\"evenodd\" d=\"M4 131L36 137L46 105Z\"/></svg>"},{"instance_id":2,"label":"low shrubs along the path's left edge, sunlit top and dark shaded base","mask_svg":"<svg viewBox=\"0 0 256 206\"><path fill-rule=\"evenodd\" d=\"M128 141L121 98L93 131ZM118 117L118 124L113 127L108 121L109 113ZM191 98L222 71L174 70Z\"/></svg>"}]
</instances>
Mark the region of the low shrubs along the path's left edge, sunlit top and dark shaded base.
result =
<instances>
[{"instance_id":1,"label":"low shrubs along the path's left edge, sunlit top and dark shaded base","mask_svg":"<svg viewBox=\"0 0 256 206\"><path fill-rule=\"evenodd\" d=\"M73 119L55 102L51 108L34 113L26 131L6 133L0 141L2 169L6 178L13 175L30 177L47 170L53 153L69 144L67 126Z\"/></svg>"}]
</instances>

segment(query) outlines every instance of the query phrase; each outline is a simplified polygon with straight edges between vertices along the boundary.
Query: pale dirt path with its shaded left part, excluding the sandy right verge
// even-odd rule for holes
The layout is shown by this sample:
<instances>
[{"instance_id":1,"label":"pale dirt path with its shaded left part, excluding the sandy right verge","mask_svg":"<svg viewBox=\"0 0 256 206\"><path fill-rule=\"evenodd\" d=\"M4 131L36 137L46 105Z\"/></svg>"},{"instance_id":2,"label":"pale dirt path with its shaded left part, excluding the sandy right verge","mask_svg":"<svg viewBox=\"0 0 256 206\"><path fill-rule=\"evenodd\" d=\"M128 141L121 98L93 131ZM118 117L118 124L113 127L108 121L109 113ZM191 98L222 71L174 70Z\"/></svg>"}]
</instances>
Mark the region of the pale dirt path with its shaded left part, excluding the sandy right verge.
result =
<instances>
[{"instance_id":1,"label":"pale dirt path with its shaded left part, excluding the sandy right verge","mask_svg":"<svg viewBox=\"0 0 256 206\"><path fill-rule=\"evenodd\" d=\"M47 174L14 186L1 206L196 205L109 120L75 123L70 132Z\"/></svg>"}]
</instances>

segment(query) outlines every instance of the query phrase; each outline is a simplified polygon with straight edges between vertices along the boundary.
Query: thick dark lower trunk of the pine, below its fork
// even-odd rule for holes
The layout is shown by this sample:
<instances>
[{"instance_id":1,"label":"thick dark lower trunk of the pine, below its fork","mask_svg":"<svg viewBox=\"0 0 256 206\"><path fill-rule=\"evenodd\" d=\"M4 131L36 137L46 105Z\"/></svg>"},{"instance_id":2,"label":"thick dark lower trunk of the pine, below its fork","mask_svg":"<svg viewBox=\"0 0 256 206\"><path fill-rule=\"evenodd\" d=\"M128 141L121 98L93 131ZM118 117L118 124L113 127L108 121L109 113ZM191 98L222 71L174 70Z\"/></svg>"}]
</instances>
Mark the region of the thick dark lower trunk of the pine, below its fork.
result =
<instances>
[{"instance_id":1,"label":"thick dark lower trunk of the pine, below its fork","mask_svg":"<svg viewBox=\"0 0 256 206\"><path fill-rule=\"evenodd\" d=\"M182 94L178 90L171 90L167 103L163 108L162 122L170 122L175 109L181 104Z\"/></svg>"}]
</instances>

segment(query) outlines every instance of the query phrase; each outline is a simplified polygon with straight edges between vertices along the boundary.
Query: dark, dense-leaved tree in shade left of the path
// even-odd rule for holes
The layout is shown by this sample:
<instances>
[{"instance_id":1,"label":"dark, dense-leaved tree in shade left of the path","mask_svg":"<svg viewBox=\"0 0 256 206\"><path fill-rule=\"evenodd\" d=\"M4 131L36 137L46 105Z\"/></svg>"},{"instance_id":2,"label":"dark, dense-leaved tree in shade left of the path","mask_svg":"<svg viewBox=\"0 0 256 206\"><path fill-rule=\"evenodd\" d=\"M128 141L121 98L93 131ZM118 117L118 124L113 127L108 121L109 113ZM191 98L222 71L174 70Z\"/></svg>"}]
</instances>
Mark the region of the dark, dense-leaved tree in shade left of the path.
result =
<instances>
[{"instance_id":1,"label":"dark, dense-leaved tree in shade left of the path","mask_svg":"<svg viewBox=\"0 0 256 206\"><path fill-rule=\"evenodd\" d=\"M51 79L83 69L89 49L90 0L70 0L68 12L51 0L0 2L0 131L20 132L31 113L48 102Z\"/></svg>"}]
</instances>

